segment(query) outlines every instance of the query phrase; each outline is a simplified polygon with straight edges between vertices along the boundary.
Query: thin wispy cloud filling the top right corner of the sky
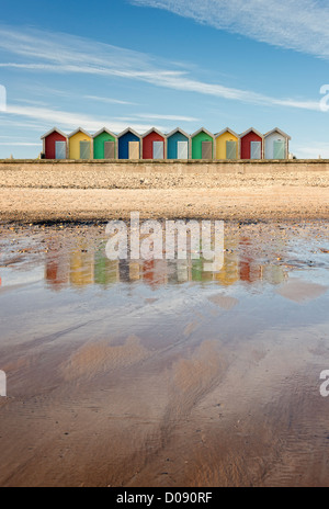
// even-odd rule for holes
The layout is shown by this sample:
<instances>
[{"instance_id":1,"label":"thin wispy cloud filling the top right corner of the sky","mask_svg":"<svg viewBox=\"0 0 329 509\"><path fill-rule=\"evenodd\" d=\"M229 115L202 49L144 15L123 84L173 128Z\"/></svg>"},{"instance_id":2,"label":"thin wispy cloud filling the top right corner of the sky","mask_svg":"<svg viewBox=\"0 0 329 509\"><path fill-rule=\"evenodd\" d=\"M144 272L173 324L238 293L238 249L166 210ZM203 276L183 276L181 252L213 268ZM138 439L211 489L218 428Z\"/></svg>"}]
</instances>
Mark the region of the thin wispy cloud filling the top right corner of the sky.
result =
<instances>
[{"instance_id":1,"label":"thin wispy cloud filling the top right corner of the sky","mask_svg":"<svg viewBox=\"0 0 329 509\"><path fill-rule=\"evenodd\" d=\"M328 0L131 0L259 42L329 58Z\"/></svg>"}]
</instances>

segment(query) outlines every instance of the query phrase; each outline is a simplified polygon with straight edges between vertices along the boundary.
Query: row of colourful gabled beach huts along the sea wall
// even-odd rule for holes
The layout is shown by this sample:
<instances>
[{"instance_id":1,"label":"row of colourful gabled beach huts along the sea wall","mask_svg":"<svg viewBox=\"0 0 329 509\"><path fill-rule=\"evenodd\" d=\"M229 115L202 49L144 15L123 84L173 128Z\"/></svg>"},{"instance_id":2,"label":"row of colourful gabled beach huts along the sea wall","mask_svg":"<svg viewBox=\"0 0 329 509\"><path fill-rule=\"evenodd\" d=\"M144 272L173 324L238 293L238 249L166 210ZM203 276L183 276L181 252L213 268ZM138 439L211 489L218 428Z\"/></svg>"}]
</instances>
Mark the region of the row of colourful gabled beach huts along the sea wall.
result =
<instances>
[{"instance_id":1,"label":"row of colourful gabled beach huts along the sea wall","mask_svg":"<svg viewBox=\"0 0 329 509\"><path fill-rule=\"evenodd\" d=\"M163 134L155 127L140 135L128 127L114 134L103 127L90 134L79 127L67 135L57 127L42 136L44 159L72 160L239 160L288 159L291 137L275 127L261 134L230 128L212 134L204 127L189 135L181 128Z\"/></svg>"}]
</instances>

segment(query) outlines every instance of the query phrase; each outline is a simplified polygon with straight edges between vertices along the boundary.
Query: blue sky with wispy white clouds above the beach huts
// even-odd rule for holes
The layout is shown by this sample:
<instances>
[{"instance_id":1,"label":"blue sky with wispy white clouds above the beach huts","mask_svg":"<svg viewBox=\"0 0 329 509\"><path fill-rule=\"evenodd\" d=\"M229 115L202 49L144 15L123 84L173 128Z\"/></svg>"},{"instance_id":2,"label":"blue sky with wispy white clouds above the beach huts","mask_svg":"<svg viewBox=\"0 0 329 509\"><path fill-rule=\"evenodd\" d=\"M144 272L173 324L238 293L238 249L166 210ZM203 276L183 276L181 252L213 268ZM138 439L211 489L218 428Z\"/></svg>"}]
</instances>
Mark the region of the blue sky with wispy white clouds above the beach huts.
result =
<instances>
[{"instance_id":1,"label":"blue sky with wispy white clouds above the beach huts","mask_svg":"<svg viewBox=\"0 0 329 509\"><path fill-rule=\"evenodd\" d=\"M329 158L328 0L1 0L0 158L69 134L279 127Z\"/></svg>"}]
</instances>

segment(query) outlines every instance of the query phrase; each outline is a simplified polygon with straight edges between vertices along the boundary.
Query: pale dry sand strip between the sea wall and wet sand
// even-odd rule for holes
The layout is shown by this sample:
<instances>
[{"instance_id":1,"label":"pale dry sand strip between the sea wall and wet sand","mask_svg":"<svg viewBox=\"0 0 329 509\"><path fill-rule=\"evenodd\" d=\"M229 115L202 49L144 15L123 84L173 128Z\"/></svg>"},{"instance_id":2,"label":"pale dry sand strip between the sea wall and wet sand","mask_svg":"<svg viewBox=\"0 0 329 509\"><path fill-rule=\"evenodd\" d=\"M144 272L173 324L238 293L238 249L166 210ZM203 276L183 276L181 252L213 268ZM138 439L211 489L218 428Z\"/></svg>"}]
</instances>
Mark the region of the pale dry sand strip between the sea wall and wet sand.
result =
<instances>
[{"instance_id":1,"label":"pale dry sand strip between the sea wall and wet sand","mask_svg":"<svg viewBox=\"0 0 329 509\"><path fill-rule=\"evenodd\" d=\"M328 172L123 174L111 170L0 170L0 220L141 217L226 220L329 217Z\"/></svg>"}]
</instances>

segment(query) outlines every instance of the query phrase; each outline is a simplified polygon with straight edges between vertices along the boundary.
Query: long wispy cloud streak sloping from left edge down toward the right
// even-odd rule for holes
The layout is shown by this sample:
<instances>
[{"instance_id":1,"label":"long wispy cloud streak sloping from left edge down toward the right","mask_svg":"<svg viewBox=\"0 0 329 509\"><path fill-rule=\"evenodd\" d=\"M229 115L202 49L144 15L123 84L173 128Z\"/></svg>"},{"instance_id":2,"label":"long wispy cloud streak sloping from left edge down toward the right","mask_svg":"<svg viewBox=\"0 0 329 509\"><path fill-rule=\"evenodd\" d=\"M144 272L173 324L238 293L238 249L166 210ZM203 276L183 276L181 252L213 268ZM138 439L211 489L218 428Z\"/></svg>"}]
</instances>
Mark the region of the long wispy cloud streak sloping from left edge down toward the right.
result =
<instances>
[{"instance_id":1,"label":"long wispy cloud streak sloping from left edge down toward the right","mask_svg":"<svg viewBox=\"0 0 329 509\"><path fill-rule=\"evenodd\" d=\"M167 3L173 5L173 2L166 2L166 0L152 3L158 7L160 4L164 7ZM193 1L192 3L196 5L196 2ZM218 4L215 0L207 0L206 2L208 7L212 7L213 3ZM222 3L226 2L223 1ZM240 2L238 3L240 4ZM178 4L185 8L188 5L184 1L178 2ZM54 50L54 47L56 50ZM172 67L175 65L173 66L172 63L161 61L144 53L72 35L31 30L16 32L0 27L1 48L8 54L15 54L19 58L23 58L24 61L1 63L0 67L15 67L33 70L34 72L111 76L121 79L139 80L155 87L179 90L184 93L193 92L258 105L320 111L318 101L273 98L250 90L230 88L219 83L207 83L193 79L185 69L173 69Z\"/></svg>"}]
</instances>

